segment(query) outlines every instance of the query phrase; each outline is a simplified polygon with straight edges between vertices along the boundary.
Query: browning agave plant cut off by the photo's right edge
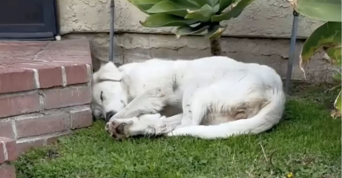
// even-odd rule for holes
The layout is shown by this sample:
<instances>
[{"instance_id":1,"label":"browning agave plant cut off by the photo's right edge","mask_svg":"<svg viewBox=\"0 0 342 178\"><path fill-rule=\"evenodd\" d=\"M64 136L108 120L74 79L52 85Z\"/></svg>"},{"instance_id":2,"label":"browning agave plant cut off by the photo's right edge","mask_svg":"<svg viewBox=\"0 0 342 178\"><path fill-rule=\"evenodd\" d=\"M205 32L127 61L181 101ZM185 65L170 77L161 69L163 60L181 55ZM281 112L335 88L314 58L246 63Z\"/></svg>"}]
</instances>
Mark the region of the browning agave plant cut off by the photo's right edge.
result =
<instances>
[{"instance_id":1,"label":"browning agave plant cut off by the photo's right edge","mask_svg":"<svg viewBox=\"0 0 342 178\"><path fill-rule=\"evenodd\" d=\"M300 54L300 68L321 48L324 49L332 63L337 66L333 77L341 81L341 0L291 0L294 9L302 15L325 21L304 42ZM340 85L340 84L339 84ZM341 87L334 102L334 107L341 115Z\"/></svg>"}]
</instances>

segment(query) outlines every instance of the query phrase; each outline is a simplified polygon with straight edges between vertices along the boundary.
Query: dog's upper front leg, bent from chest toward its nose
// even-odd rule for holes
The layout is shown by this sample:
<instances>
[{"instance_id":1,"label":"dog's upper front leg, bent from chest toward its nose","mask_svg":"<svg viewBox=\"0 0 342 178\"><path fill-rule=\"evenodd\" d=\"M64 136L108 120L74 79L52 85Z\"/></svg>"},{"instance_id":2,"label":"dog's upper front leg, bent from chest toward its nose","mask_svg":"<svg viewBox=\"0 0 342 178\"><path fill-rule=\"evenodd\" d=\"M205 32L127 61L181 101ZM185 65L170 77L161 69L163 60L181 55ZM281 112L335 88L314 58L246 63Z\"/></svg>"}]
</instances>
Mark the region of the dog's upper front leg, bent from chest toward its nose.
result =
<instances>
[{"instance_id":1,"label":"dog's upper front leg, bent from chest toward its nose","mask_svg":"<svg viewBox=\"0 0 342 178\"><path fill-rule=\"evenodd\" d=\"M165 106L165 93L161 89L153 89L134 98L125 108L109 121L119 118L137 117L142 114L155 114Z\"/></svg>"}]
</instances>

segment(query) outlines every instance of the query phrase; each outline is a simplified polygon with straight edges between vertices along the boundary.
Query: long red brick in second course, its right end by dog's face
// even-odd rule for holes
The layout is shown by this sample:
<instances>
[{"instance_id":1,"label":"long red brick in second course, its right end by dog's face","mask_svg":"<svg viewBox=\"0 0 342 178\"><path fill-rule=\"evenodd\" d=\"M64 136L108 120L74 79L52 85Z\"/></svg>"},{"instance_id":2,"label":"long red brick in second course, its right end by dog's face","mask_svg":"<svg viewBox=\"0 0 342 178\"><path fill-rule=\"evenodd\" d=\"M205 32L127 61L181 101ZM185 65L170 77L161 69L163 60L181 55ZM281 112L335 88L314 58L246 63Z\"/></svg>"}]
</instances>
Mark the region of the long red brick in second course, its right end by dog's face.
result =
<instances>
[{"instance_id":1,"label":"long red brick in second course, its right end by dog's face","mask_svg":"<svg viewBox=\"0 0 342 178\"><path fill-rule=\"evenodd\" d=\"M90 86L44 90L45 109L88 104L91 101Z\"/></svg>"}]
</instances>

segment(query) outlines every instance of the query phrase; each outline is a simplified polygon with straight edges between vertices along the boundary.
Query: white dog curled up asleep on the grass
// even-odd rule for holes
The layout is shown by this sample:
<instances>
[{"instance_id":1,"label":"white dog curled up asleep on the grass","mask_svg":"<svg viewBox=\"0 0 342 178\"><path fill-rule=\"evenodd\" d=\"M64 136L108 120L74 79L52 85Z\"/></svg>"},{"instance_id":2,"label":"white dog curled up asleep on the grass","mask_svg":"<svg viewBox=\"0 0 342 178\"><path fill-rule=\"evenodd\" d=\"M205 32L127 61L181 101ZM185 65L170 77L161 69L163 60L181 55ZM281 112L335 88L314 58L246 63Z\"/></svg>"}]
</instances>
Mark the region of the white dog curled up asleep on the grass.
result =
<instances>
[{"instance_id":1,"label":"white dog curled up asleep on the grass","mask_svg":"<svg viewBox=\"0 0 342 178\"><path fill-rule=\"evenodd\" d=\"M92 107L116 139L134 135L227 138L260 133L279 122L285 94L270 67L228 57L151 59L117 68L109 62L93 75ZM166 118L167 106L183 113Z\"/></svg>"}]
</instances>

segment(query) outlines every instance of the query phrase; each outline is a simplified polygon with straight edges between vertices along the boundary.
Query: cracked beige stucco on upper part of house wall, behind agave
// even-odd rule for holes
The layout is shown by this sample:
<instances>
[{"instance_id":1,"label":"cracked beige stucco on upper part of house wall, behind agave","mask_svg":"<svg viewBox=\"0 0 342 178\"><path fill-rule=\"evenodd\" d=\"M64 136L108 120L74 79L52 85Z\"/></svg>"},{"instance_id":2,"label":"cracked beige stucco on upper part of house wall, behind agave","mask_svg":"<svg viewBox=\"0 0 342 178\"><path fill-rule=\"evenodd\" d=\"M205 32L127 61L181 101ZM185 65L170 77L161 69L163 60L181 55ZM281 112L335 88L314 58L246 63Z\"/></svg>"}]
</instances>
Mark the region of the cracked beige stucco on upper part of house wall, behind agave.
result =
<instances>
[{"instance_id":1,"label":"cracked beige stucco on upper part of house wall, behind agave","mask_svg":"<svg viewBox=\"0 0 342 178\"><path fill-rule=\"evenodd\" d=\"M109 31L110 0L59 0L61 33ZM145 28L139 20L146 14L127 0L115 0L115 29L123 32L170 33L172 28ZM224 35L251 37L289 37L292 8L286 0L255 0L242 14L226 21ZM298 36L306 37L320 22L299 18Z\"/></svg>"}]
</instances>

